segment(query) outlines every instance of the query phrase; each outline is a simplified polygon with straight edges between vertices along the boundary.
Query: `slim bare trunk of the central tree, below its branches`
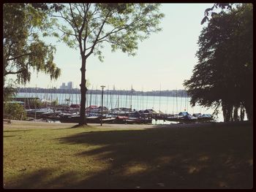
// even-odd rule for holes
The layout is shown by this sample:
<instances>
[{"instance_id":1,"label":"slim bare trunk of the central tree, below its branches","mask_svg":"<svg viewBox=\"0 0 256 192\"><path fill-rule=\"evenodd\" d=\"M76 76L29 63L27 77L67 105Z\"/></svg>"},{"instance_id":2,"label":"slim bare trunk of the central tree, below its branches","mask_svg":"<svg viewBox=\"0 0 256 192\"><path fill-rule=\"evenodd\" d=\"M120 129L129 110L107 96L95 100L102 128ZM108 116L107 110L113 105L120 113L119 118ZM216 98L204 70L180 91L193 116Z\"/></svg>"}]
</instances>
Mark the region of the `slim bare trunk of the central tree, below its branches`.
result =
<instances>
[{"instance_id":1,"label":"slim bare trunk of the central tree, below its branches","mask_svg":"<svg viewBox=\"0 0 256 192\"><path fill-rule=\"evenodd\" d=\"M82 55L82 67L81 67L81 106L80 106L80 122L79 125L87 125L86 123L86 57Z\"/></svg>"}]
</instances>

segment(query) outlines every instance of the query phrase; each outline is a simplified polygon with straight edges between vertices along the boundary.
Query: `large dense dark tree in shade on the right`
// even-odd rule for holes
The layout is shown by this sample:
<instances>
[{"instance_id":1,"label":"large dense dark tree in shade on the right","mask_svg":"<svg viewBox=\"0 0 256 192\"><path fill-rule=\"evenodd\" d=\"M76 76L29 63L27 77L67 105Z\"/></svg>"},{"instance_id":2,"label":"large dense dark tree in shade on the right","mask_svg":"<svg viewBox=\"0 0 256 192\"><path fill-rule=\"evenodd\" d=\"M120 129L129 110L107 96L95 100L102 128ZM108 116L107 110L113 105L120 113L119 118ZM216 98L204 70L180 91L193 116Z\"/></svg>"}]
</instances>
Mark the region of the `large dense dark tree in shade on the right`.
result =
<instances>
[{"instance_id":1,"label":"large dense dark tree in shade on the right","mask_svg":"<svg viewBox=\"0 0 256 192\"><path fill-rule=\"evenodd\" d=\"M214 15L198 45L198 64L184 81L191 104L222 105L225 121L243 120L245 108L252 120L252 4Z\"/></svg>"}]
</instances>

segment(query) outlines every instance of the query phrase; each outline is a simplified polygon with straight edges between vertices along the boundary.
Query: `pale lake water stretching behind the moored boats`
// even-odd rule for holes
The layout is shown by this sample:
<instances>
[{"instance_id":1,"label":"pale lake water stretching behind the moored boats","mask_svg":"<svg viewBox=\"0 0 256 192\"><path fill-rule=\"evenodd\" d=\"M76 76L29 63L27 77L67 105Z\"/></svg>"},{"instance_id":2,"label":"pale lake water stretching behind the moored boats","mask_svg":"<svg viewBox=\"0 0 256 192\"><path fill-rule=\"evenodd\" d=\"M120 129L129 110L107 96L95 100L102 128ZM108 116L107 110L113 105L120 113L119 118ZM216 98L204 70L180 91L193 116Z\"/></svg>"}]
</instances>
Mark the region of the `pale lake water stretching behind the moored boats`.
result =
<instances>
[{"instance_id":1,"label":"pale lake water stretching behind the moored boats","mask_svg":"<svg viewBox=\"0 0 256 192\"><path fill-rule=\"evenodd\" d=\"M65 99L70 99L69 104L80 104L80 94L69 94L69 93L18 93L19 96L34 97L37 96L39 99L58 100L59 104L67 104ZM101 106L102 96L99 94L86 94L86 107L90 105ZM108 94L105 91L103 94L103 106L108 109L126 107L132 110L146 110L153 109L157 112L177 114L181 111L187 111L193 113L209 113L212 114L214 109L207 109L206 107L200 107L196 105L191 107L189 104L190 98L185 97L170 97L170 96L138 96L133 94L132 99L130 95L116 95ZM214 117L217 121L223 121L223 115L221 108L219 109L219 115ZM170 123L170 122L167 122Z\"/></svg>"}]
</instances>

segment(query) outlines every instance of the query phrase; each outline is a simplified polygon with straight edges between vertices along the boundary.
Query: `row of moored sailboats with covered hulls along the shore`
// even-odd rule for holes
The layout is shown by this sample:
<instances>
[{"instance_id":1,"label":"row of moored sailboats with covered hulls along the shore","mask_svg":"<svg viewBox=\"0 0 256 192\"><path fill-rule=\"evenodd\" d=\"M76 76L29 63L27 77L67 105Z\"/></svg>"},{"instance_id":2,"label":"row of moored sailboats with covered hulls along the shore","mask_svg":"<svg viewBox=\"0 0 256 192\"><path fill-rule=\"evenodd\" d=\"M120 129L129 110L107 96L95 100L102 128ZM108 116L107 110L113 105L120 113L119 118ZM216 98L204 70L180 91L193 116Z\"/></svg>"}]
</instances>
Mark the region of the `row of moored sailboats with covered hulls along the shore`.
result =
<instances>
[{"instance_id":1,"label":"row of moored sailboats with covered hulls along the shore","mask_svg":"<svg viewBox=\"0 0 256 192\"><path fill-rule=\"evenodd\" d=\"M101 115L101 110L102 114ZM26 110L27 116L34 119L43 120L59 120L61 123L79 123L80 112L78 108L69 107L59 109L34 109ZM178 123L192 123L202 121L213 121L211 114L179 112L178 114L165 114L162 112L155 112L154 110L133 110L129 108L116 108L108 110L106 107L90 106L86 108L86 122L87 123L120 123L120 124L151 124L152 120L164 120Z\"/></svg>"}]
</instances>

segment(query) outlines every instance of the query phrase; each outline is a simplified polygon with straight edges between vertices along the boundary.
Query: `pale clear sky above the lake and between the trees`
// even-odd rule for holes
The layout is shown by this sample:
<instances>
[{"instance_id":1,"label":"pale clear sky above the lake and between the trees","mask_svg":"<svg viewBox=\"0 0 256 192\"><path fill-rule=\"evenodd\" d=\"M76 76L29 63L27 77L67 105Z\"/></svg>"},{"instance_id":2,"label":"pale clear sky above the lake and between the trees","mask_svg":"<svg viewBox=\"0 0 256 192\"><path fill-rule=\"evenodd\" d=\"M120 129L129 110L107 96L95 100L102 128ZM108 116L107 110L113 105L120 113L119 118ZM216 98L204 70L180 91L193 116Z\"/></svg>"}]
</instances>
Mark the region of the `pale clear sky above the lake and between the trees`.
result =
<instances>
[{"instance_id":1,"label":"pale clear sky above the lake and between the trees","mask_svg":"<svg viewBox=\"0 0 256 192\"><path fill-rule=\"evenodd\" d=\"M151 34L143 42L139 42L135 56L116 51L110 47L102 49L104 61L91 55L87 61L86 79L89 89L100 89L105 85L108 89L136 91L184 89L184 80L192 75L197 64L197 40L203 26L200 21L205 9L213 4L162 4L160 11L165 14L160 27L162 31ZM51 39L56 45L55 63L61 68L61 77L50 80L49 75L36 72L31 74L31 82L26 87L51 88L62 82L73 82L74 88L80 84L80 51L74 50L64 43ZM23 85L20 85L23 87Z\"/></svg>"}]
</instances>

